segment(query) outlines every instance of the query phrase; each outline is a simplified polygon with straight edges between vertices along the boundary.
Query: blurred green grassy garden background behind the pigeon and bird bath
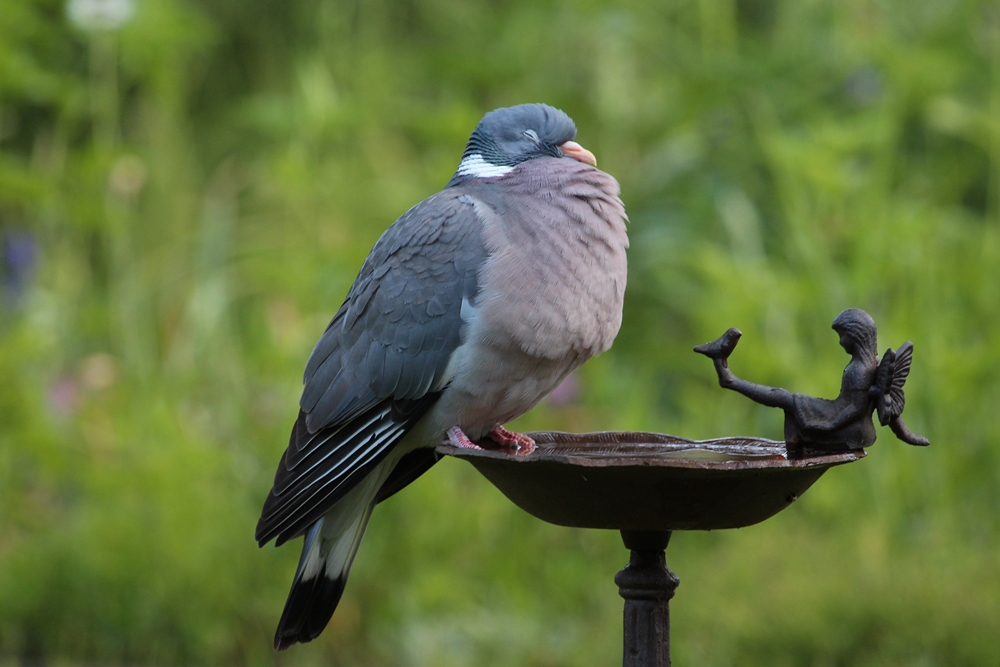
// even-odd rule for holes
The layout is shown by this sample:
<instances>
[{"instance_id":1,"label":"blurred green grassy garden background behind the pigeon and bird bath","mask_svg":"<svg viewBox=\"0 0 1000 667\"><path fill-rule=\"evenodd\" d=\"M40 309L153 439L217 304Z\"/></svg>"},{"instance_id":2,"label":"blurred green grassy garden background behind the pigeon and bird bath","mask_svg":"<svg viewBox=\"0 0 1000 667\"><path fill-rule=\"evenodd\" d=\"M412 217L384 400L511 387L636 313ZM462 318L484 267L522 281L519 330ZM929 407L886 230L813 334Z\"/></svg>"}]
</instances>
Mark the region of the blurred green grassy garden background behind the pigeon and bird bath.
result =
<instances>
[{"instance_id":1,"label":"blurred green grassy garden background behind the pigeon and bird bath","mask_svg":"<svg viewBox=\"0 0 1000 667\"><path fill-rule=\"evenodd\" d=\"M312 344L525 101L620 180L632 248L615 348L517 427L780 437L691 346L737 326L737 372L831 397L841 309L916 346L929 449L881 429L767 523L675 536L676 664L1000 663L995 3L93 2L0 6L0 665L618 664L618 535L457 461L271 650L298 549L253 528Z\"/></svg>"}]
</instances>

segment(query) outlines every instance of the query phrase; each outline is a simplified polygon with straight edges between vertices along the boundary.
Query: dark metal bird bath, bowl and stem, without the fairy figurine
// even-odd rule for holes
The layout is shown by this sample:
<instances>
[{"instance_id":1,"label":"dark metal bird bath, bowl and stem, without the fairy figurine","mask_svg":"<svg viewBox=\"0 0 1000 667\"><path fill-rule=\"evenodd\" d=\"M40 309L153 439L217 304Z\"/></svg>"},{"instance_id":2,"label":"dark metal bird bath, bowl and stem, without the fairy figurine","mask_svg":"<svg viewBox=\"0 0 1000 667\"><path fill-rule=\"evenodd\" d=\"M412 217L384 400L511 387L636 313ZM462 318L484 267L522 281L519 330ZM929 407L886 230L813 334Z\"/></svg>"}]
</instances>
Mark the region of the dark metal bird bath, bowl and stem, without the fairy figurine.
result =
<instances>
[{"instance_id":1,"label":"dark metal bird bath, bowl and stem, without the fairy figurine","mask_svg":"<svg viewBox=\"0 0 1000 667\"><path fill-rule=\"evenodd\" d=\"M678 578L664 552L675 530L759 523L788 507L829 468L863 450L785 458L758 438L691 441L659 433L531 433L528 456L441 445L543 521L621 531L631 558L615 576L625 598L624 667L670 665L670 598Z\"/></svg>"}]
</instances>

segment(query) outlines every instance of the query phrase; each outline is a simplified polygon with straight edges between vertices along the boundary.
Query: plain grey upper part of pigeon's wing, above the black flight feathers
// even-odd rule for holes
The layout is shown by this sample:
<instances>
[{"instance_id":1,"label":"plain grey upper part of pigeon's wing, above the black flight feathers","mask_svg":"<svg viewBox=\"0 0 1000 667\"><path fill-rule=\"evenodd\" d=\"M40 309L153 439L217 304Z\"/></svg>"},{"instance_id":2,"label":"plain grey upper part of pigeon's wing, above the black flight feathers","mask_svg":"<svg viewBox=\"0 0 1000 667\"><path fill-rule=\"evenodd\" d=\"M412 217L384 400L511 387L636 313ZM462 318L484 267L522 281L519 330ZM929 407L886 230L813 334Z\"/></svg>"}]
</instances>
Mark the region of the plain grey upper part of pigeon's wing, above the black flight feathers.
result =
<instances>
[{"instance_id":1,"label":"plain grey upper part of pigeon's wing, above the black flight feathers","mask_svg":"<svg viewBox=\"0 0 1000 667\"><path fill-rule=\"evenodd\" d=\"M422 396L444 373L486 257L472 207L448 195L382 235L316 345L300 403L310 432L388 397Z\"/></svg>"}]
</instances>

